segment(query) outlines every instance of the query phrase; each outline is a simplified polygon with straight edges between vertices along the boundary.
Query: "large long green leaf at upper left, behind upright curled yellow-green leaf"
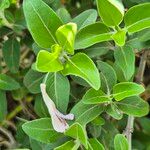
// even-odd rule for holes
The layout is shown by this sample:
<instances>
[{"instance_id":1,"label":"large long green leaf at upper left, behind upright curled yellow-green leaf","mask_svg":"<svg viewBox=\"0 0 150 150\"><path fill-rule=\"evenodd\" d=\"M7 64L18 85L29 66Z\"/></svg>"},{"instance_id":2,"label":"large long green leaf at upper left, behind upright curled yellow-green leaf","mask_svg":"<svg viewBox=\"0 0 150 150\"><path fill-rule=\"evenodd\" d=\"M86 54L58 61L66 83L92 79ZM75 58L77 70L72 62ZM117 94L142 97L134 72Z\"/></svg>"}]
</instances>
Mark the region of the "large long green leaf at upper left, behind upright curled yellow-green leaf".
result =
<instances>
[{"instance_id":1,"label":"large long green leaf at upper left, behind upright curled yellow-green leaf","mask_svg":"<svg viewBox=\"0 0 150 150\"><path fill-rule=\"evenodd\" d=\"M62 22L55 12L42 0L25 0L23 9L28 29L35 42L43 48L50 48L57 43L55 32Z\"/></svg>"}]
</instances>

